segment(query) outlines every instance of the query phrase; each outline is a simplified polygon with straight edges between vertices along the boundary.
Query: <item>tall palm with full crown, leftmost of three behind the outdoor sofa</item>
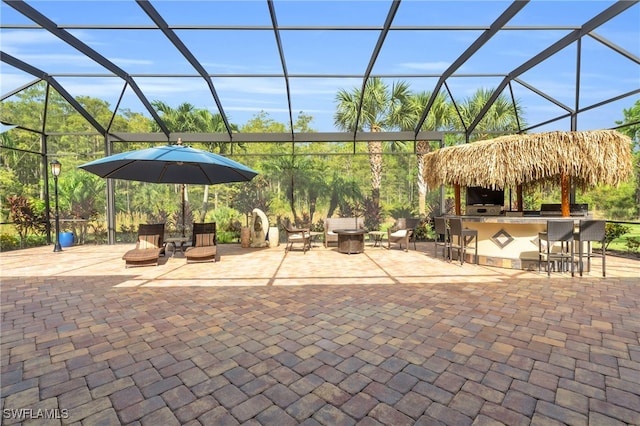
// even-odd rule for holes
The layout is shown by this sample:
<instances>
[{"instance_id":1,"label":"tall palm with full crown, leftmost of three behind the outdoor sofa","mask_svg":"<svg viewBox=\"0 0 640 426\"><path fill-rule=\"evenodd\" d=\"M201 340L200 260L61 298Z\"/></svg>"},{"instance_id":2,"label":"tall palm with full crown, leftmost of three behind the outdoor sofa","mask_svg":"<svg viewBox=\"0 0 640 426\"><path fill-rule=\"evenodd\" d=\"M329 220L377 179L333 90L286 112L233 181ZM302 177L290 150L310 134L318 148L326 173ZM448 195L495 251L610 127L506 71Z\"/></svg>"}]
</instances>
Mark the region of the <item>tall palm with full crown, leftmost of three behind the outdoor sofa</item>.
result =
<instances>
[{"instance_id":1,"label":"tall palm with full crown, leftmost of three behind the outdoor sofa","mask_svg":"<svg viewBox=\"0 0 640 426\"><path fill-rule=\"evenodd\" d=\"M351 92L340 89L336 95L338 107L334 123L339 129L349 132L364 129L380 132L403 127L412 116L410 95L407 83L395 82L390 88L378 77L373 77L366 82L364 94L358 88L354 88ZM362 108L360 108L360 99L362 99ZM361 112L358 121L359 109ZM371 169L371 199L376 208L380 207L382 146L381 141L367 142Z\"/></svg>"}]
</instances>

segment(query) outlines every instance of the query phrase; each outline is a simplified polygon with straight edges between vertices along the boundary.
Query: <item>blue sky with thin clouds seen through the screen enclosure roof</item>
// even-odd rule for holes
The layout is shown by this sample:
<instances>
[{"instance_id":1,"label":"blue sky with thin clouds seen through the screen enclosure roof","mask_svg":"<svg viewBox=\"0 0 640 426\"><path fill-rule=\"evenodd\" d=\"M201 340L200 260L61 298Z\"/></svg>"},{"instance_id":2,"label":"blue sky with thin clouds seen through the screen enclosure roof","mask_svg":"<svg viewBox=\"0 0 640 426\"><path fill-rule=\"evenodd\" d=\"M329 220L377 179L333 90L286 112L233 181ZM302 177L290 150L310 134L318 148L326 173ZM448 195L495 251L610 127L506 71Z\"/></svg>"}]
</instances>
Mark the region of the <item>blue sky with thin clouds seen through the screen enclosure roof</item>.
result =
<instances>
[{"instance_id":1,"label":"blue sky with thin clouds seen through the screen enclosure roof","mask_svg":"<svg viewBox=\"0 0 640 426\"><path fill-rule=\"evenodd\" d=\"M36 10L58 25L149 26L152 21L133 0L118 1L28 1ZM478 88L497 86L502 77L555 41L572 27L600 13L613 1L531 1L503 31L489 41L473 58L448 79L456 101ZM208 73L230 121L243 124L260 111L273 119L288 122L285 82L275 75L282 64L272 30L256 28L271 25L266 1L152 1L153 7L171 26L245 25L242 31L229 29L176 29L186 46ZM287 26L380 27L390 1L282 1L275 0L278 24ZM389 83L404 80L416 91L431 91L437 76L445 70L510 5L507 1L418 1L401 3L392 28L410 26L475 26L472 30L415 31L392 30L373 67L374 75ZM30 20L2 3L3 26L28 25ZM554 31L536 26L562 26ZM527 27L526 29L524 27ZM149 100L161 100L176 107L189 102L197 108L217 112L205 82L178 50L156 30L148 29L69 29L69 32L127 73ZM596 30L604 39L619 45L630 55L640 57L640 5L636 4ZM361 76L378 39L378 31L285 29L281 39L290 79L292 110L314 117L317 131L334 131L333 115L338 89L360 87ZM105 99L117 103L124 83L99 64L66 46L48 32L32 28L2 28L2 52L28 62L56 78L74 96ZM558 102L575 107L576 43L519 77ZM614 52L591 37L582 40L580 107L594 105L640 87L640 65ZM92 77L79 77L90 73ZM0 63L0 91L4 95L34 80L16 68ZM316 74L325 77L312 77ZM432 77L415 77L416 74ZM482 77L472 75L481 74ZM152 76L153 75L153 76ZM158 76L160 75L160 76ZM243 77L238 77L242 75ZM349 75L353 78L333 77ZM247 77L249 76L249 77ZM515 97L525 106L529 124L546 121L563 110L543 97L514 84ZM622 117L622 109L633 105L640 95L585 112L578 119L578 130L608 128ZM131 89L121 108L145 112ZM538 130L569 130L562 120Z\"/></svg>"}]
</instances>

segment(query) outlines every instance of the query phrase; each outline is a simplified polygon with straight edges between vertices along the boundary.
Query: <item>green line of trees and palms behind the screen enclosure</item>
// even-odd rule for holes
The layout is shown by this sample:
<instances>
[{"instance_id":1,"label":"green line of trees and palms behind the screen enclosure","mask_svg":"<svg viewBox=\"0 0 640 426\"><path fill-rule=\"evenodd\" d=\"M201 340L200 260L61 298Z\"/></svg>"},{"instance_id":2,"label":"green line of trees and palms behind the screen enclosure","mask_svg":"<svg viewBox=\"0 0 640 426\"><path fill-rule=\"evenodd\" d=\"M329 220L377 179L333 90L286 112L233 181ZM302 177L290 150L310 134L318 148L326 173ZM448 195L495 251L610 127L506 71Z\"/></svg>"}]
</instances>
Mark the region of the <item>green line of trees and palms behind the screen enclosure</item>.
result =
<instances>
[{"instance_id":1,"label":"green line of trees and palms behind the screen enclosure","mask_svg":"<svg viewBox=\"0 0 640 426\"><path fill-rule=\"evenodd\" d=\"M422 129L444 131L445 143L463 143L460 129L466 129L492 95L491 89L479 89L467 99L453 102L438 93ZM60 183L60 208L64 217L93 218L104 221L104 180L77 169L77 166L104 156L104 139L94 131L61 96L48 96L46 122L43 108L44 83L18 93L15 101L4 101L1 119L20 123L27 129L44 129L47 154L63 163ZM334 122L344 131L398 131L414 129L431 93L415 93L402 81L387 84L370 79L364 87L342 89L336 94ZM78 102L101 123L111 122L114 132L149 133L160 131L144 115L130 110L115 116L103 100L79 97ZM359 104L362 109L358 115ZM225 132L219 114L184 102L171 107L154 101L153 107L171 132ZM516 100L500 96L477 126L472 140L496 134L517 132L526 127L524 108ZM638 162L640 101L622 112L619 124L629 134ZM273 120L268 113L256 114L244 124L232 124L234 132L313 132L313 117L299 113L293 129ZM2 222L10 222L11 196L24 196L43 208L42 140L38 133L11 130L3 133L0 168L0 211ZM216 220L222 229L233 231L245 225L247 214L261 208L270 218L313 225L323 217L363 215L367 226L379 227L394 217L428 216L439 211L436 188L427 188L423 180L423 156L437 146L431 141L370 141L357 143L314 142L297 144L295 153L282 143L189 143L195 148L228 155L260 174L249 183L190 186L187 191L189 220ZM116 143L116 152L148 147L144 143ZM640 195L638 180L611 191L596 188L578 194L578 202L587 202L609 219L638 218ZM540 188L525 194L525 208L537 209L541 202L557 201L554 188ZM53 191L51 191L53 192ZM139 182L116 181L116 210L122 227L135 222L164 220L180 223L179 187ZM444 206L445 210L448 206ZM187 220L187 223L189 223ZM124 229L124 228L123 228Z\"/></svg>"}]
</instances>

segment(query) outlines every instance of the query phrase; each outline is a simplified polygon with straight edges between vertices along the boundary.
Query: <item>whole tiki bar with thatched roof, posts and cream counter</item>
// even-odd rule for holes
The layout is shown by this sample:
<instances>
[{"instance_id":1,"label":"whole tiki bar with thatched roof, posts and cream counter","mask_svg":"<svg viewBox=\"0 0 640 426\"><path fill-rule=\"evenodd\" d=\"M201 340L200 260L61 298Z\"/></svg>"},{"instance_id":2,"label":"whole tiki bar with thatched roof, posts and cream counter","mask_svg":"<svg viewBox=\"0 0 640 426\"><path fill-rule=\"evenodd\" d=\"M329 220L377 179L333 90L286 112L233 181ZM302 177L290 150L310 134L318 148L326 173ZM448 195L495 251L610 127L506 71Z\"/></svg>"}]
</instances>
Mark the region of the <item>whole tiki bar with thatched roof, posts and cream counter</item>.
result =
<instances>
[{"instance_id":1,"label":"whole tiki bar with thatched roof, posts and cream counter","mask_svg":"<svg viewBox=\"0 0 640 426\"><path fill-rule=\"evenodd\" d=\"M571 202L572 187L617 186L632 173L631 141L615 130L508 135L425 157L429 186L454 187L455 215L449 217L477 232L477 253L468 251L465 260L513 269L539 267L538 236L549 222L571 218L577 227L591 217L587 205ZM558 185L561 199L524 210L523 189L531 185ZM506 190L510 199L515 195L513 209L511 202L505 207Z\"/></svg>"}]
</instances>

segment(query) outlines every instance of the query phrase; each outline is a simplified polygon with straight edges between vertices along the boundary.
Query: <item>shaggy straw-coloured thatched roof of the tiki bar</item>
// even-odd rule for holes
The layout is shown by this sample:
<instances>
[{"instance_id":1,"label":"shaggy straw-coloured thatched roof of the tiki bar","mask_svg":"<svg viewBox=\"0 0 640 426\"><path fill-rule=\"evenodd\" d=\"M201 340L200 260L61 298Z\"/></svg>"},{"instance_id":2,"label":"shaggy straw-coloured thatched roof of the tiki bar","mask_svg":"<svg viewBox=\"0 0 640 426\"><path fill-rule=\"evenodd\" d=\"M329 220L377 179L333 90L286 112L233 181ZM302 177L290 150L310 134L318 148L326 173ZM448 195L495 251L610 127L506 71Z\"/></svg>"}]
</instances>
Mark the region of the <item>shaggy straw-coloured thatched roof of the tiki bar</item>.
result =
<instances>
[{"instance_id":1,"label":"shaggy straw-coloured thatched roof of the tiki bar","mask_svg":"<svg viewBox=\"0 0 640 426\"><path fill-rule=\"evenodd\" d=\"M424 178L431 188L504 189L569 177L586 188L618 185L632 172L631 139L615 130L593 130L508 135L442 148L425 155Z\"/></svg>"}]
</instances>

